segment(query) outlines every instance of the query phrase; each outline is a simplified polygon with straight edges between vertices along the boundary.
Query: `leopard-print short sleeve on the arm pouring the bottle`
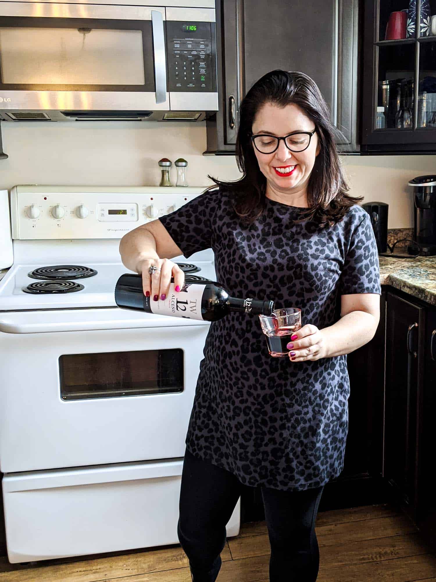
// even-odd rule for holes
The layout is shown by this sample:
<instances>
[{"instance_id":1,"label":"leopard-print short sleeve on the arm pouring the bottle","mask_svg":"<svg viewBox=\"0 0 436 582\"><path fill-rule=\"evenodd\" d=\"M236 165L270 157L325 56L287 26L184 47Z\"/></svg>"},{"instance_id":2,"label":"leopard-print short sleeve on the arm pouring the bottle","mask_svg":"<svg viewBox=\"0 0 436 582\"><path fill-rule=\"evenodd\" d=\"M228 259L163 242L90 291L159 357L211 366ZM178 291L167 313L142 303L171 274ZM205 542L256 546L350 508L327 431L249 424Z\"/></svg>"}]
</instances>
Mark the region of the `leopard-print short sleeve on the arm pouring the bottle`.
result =
<instances>
[{"instance_id":1,"label":"leopard-print short sleeve on the arm pouring the bottle","mask_svg":"<svg viewBox=\"0 0 436 582\"><path fill-rule=\"evenodd\" d=\"M212 223L218 200L219 190L209 190L160 218L184 257L212 246Z\"/></svg>"}]
</instances>

